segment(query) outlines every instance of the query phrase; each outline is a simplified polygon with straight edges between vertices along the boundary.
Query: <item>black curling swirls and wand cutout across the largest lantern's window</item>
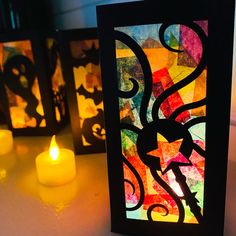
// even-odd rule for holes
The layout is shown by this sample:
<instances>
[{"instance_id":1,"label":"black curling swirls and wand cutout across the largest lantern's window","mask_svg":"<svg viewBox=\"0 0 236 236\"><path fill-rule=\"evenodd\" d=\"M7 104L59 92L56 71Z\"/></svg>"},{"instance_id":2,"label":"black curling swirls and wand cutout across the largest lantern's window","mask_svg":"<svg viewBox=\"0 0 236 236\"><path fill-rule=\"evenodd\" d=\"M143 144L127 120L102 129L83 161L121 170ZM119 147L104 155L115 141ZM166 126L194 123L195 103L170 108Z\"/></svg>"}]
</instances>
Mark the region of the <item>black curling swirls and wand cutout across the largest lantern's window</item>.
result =
<instances>
[{"instance_id":1,"label":"black curling swirls and wand cutout across the largest lantern's window","mask_svg":"<svg viewBox=\"0 0 236 236\"><path fill-rule=\"evenodd\" d=\"M189 159L192 150L195 150L202 157L205 157L205 151L200 146L198 146L196 143L193 142L193 140L190 138L191 135L190 135L188 129L196 124L206 122L206 118L205 117L197 117L197 118L194 118L182 125L179 123L177 125L177 122L175 121L175 119L184 111L206 105L206 98L203 98L199 101L195 101L195 102L192 102L189 104L182 105L181 107L177 108L169 117L171 126L168 124L168 121L161 122L164 125L164 127L162 127L162 128L155 125L155 123L158 123L161 121L158 114L159 114L159 109L160 109L161 105L163 104L163 102L168 97L170 97L172 94L174 94L178 90L184 88L185 86L190 84L192 81L194 81L196 78L198 78L201 75L201 73L203 72L203 70L206 68L207 37L206 37L203 29L198 24L196 24L194 22L187 22L187 23L186 22L178 22L178 24L184 25L184 26L192 29L198 35L198 37L201 41L201 45L202 45L202 55L201 55L198 65L188 76L186 76L184 79L180 80L179 82L175 83L171 87L167 88L165 91L163 91L156 98L156 100L154 101L153 106L152 106L151 112L152 112L153 121L151 123L148 121L148 117L147 117L148 116L148 106L149 106L150 98L152 95L152 70L151 70L148 58L145 55L142 47L140 47L134 39L132 39L130 36L128 36L127 34L125 34L123 32L115 31L115 39L119 40L120 42L122 42L123 44L128 46L128 48L131 49L132 52L137 57L140 65L141 65L143 78L144 78L144 91L143 91L143 96L142 96L142 100L140 103L141 106L140 106L140 111L139 111L139 118L140 118L143 128L140 129L133 124L121 122L120 129L121 130L126 129L129 131L132 131L135 134L137 134L138 137L142 136L142 138L146 137L147 139L149 138L151 133L153 133L153 136L151 136L151 137L154 138L154 136L156 135L155 132L157 132L157 133L160 132L164 136L167 135L173 141L176 140L177 137L181 138L181 136L182 136L182 138L184 140L186 139L186 142L185 142L185 146L183 146L183 145L181 146L180 151L182 151L184 149L183 147L188 146L187 147L188 151L187 152L183 151L183 153L186 153L186 155L185 155L186 159ZM171 25L174 25L174 24L173 23L163 23L161 25L161 27L159 29L160 42L169 51L174 52L174 53L182 53L183 52L182 50L174 49L165 42L165 37L164 37L165 32L166 32L167 28ZM133 87L130 91L121 91L120 90L119 91L120 98L125 98L125 99L133 98L138 93L139 83L134 78L130 78L129 80L133 84ZM165 124L166 124L166 127L165 127ZM176 130L178 131L178 134L176 137L173 136L170 133L170 131L168 130L168 127L172 127L172 126L174 128L176 128ZM184 141L183 141L183 143L184 143ZM145 142L145 144L149 145L149 142ZM150 141L150 145L155 146L155 140ZM159 184L159 186L161 186L165 190L166 193L169 194L169 196L175 202L175 204L178 208L178 212L179 212L178 222L183 223L184 219L185 219L185 209L184 209L184 206L182 203L182 199L175 193L175 191L172 189L172 187L170 187L158 174L157 170L160 170L160 162L154 161L153 159L151 159L153 157L151 155L147 155L147 152L144 151L142 149L142 147L140 147L140 142L137 142L136 146L138 149L138 154L139 154L140 160L142 161L142 163L144 165L149 167L150 173L151 173L153 179ZM149 150L150 147L147 147L147 150ZM124 155L122 155L122 160L123 160L124 164L129 168L129 170L134 174L135 178L137 179L139 189L140 189L140 198L138 200L138 203L134 207L126 208L127 211L134 211L134 210L139 209L142 206L142 204L145 200L145 189L144 189L142 178L141 178L140 174L138 173L138 171L126 159L126 157ZM187 205L189 204L192 213L195 215L196 219L200 223L202 221L202 215L200 212L201 209L198 206L198 200L195 198L195 193L191 193L188 185L186 184L186 177L181 173L181 171L179 169L180 165L181 164L174 163L173 165L170 165L169 169L172 169L173 173L176 175L176 181L178 182L178 184L180 185L180 188L182 189L182 191L184 193L183 199L185 199ZM187 164L184 163L182 165L191 166L192 163L191 163L191 161L189 161L189 163L187 163ZM136 191L134 184L129 179L124 179L124 182L126 182L132 186L133 194L134 194ZM164 204L154 203L154 204L150 205L147 210L147 218L149 221L153 221L152 211L155 208L162 208L163 210L165 210L164 216L167 216L169 214L169 209Z\"/></svg>"}]
</instances>

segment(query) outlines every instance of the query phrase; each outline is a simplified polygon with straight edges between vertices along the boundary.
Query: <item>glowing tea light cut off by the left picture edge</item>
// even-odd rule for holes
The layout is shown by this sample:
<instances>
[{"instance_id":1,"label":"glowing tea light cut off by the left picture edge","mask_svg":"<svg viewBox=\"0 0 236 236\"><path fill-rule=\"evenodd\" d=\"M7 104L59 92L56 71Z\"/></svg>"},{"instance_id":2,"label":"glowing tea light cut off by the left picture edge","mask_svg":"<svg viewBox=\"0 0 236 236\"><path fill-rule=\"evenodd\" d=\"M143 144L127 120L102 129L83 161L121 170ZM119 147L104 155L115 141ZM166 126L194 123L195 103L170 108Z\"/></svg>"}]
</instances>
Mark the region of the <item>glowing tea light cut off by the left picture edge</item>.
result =
<instances>
[{"instance_id":1,"label":"glowing tea light cut off by the left picture edge","mask_svg":"<svg viewBox=\"0 0 236 236\"><path fill-rule=\"evenodd\" d=\"M0 155L9 153L13 147L13 137L10 130L0 130Z\"/></svg>"}]
</instances>

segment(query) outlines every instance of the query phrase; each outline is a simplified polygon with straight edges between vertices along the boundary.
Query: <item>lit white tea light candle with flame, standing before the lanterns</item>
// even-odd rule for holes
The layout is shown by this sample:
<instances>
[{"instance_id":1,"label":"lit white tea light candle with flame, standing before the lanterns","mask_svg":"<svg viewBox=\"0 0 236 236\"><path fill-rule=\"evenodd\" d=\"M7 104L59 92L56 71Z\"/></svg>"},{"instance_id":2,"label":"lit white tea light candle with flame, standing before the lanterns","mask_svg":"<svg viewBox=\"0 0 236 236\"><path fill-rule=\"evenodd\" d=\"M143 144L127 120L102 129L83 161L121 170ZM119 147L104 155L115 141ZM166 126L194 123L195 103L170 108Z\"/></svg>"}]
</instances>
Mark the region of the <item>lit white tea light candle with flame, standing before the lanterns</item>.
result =
<instances>
[{"instance_id":1,"label":"lit white tea light candle with flame, standing before the lanterns","mask_svg":"<svg viewBox=\"0 0 236 236\"><path fill-rule=\"evenodd\" d=\"M74 153L69 149L59 149L55 135L52 137L49 150L40 153L35 162L41 184L59 186L70 182L76 176Z\"/></svg>"}]
</instances>

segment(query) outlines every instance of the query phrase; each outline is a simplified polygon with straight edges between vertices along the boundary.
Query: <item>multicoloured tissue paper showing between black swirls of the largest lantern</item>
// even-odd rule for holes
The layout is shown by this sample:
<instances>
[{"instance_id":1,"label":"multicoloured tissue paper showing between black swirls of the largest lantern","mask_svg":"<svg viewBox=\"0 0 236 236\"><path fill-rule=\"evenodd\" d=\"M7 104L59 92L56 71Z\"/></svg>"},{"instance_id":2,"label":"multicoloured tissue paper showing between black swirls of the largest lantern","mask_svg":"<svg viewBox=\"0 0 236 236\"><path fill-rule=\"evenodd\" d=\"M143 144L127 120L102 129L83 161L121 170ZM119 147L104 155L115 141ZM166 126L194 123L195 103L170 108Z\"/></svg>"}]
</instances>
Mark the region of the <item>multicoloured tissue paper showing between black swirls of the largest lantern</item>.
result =
<instances>
[{"instance_id":1,"label":"multicoloured tissue paper showing between black swirls of the largest lantern","mask_svg":"<svg viewBox=\"0 0 236 236\"><path fill-rule=\"evenodd\" d=\"M207 34L207 21L197 22ZM151 109L156 99L168 88L186 78L197 67L202 54L201 41L197 34L190 28L182 25L172 25L165 32L165 42L172 48L183 50L182 53L176 53L166 49L159 39L159 28L161 24L138 25L128 27L117 27L121 31L134 39L145 52L152 71L152 94L147 109L147 119L152 121ZM124 43L116 40L116 60L118 86L122 91L129 91L133 84L129 78L135 78L139 84L139 90L135 96L129 99L119 98L120 120L121 123L134 125L142 129L140 122L140 106L144 93L144 75L142 67L135 54ZM199 101L206 97L206 69L191 83L178 91L172 93L161 104L159 117L168 119L178 108ZM189 110L184 110L176 117L176 121L185 124L196 117L205 116L206 106L199 106ZM189 129L193 142L202 150L205 149L205 123L199 123ZM144 200L140 207L135 210L127 210L126 217L129 219L148 220L147 211L153 204L163 204L168 209L155 207L152 211L154 221L177 222L179 217L176 202L163 189L152 176L147 165L142 162L137 152L138 134L130 130L122 129L121 143L122 154L129 164L125 161L124 169L124 187L127 209L137 206L140 200L140 184L137 175L141 177L144 188ZM159 140L159 156L162 156L160 163L165 169L171 162L179 163L179 169L186 177L186 183L192 193L196 192L198 205L203 212L203 193L204 193L204 170L205 160L198 152L192 151L188 159L179 154L174 156L180 143L175 141L171 148L165 140ZM167 146L166 146L167 145ZM176 149L176 150L175 150ZM178 151L178 150L177 150ZM190 163L190 164L189 164ZM130 168L130 165L133 168ZM132 170L131 170L132 169ZM157 174L173 191L179 196L184 206L184 223L195 223L198 221L186 204L183 192L179 183L176 181L175 173L169 169L166 172L158 171Z\"/></svg>"}]
</instances>

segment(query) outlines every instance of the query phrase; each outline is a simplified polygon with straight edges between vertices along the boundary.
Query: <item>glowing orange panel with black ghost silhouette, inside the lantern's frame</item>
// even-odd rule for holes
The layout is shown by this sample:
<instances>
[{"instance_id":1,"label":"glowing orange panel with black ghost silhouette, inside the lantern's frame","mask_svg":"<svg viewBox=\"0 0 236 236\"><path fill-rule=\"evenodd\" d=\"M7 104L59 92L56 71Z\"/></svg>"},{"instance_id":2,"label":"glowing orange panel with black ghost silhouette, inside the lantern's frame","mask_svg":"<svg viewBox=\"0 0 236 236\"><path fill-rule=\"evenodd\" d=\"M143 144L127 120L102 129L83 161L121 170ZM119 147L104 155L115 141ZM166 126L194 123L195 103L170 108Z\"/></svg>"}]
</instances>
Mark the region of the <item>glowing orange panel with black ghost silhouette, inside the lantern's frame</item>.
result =
<instances>
[{"instance_id":1,"label":"glowing orange panel with black ghost silhouette, inside the lantern's frame","mask_svg":"<svg viewBox=\"0 0 236 236\"><path fill-rule=\"evenodd\" d=\"M46 120L31 42L24 40L0 43L0 48L0 66L4 79L8 80L5 89L12 127L45 127ZM21 57L19 60L19 56L24 56L24 59Z\"/></svg>"}]
</instances>

